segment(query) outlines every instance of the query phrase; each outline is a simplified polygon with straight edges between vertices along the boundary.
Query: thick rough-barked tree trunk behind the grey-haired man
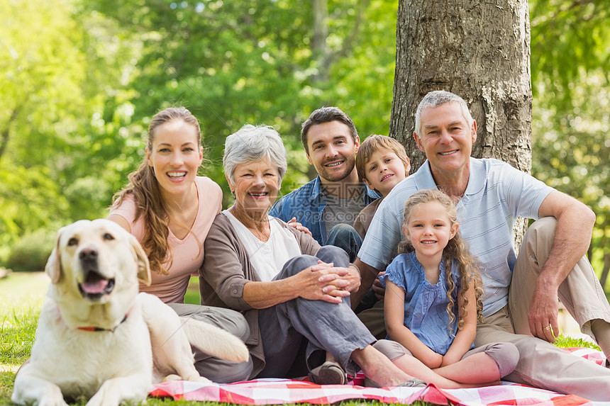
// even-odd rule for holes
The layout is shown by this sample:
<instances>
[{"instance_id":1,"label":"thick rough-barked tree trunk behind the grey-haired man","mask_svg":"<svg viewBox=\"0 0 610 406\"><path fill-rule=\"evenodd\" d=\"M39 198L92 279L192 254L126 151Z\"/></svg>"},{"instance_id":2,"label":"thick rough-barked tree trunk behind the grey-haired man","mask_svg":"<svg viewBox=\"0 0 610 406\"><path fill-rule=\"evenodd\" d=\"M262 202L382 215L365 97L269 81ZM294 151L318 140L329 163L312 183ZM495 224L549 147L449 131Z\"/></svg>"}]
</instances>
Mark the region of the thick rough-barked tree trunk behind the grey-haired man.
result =
<instances>
[{"instance_id":1,"label":"thick rough-barked tree trunk behind the grey-haired man","mask_svg":"<svg viewBox=\"0 0 610 406\"><path fill-rule=\"evenodd\" d=\"M415 111L428 91L464 98L477 120L473 157L531 171L530 26L526 0L399 0L390 136L413 170ZM516 247L526 222L516 224Z\"/></svg>"}]
</instances>

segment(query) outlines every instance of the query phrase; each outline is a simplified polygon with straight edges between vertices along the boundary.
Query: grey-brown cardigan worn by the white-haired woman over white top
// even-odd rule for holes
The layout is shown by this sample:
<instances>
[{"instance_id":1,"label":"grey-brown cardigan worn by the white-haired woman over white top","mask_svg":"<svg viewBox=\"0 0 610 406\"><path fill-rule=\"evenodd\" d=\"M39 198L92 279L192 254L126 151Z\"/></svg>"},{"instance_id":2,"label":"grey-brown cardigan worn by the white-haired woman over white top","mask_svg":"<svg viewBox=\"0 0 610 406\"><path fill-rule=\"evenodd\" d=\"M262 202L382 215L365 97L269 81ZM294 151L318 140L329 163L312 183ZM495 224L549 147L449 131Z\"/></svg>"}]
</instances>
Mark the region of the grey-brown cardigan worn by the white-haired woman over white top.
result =
<instances>
[{"instance_id":1,"label":"grey-brown cardigan worn by the white-haired woman over white top","mask_svg":"<svg viewBox=\"0 0 610 406\"><path fill-rule=\"evenodd\" d=\"M294 230L279 218L276 220L294 234L301 254L315 255L318 252L320 244L309 234ZM265 366L265 353L258 327L258 310L243 300L243 286L251 281L260 281L260 277L250 264L248 252L231 221L223 213L216 215L204 244L204 264L199 269L201 304L243 313L250 326L250 337L245 344L253 358L254 369L250 378L254 378Z\"/></svg>"}]
</instances>

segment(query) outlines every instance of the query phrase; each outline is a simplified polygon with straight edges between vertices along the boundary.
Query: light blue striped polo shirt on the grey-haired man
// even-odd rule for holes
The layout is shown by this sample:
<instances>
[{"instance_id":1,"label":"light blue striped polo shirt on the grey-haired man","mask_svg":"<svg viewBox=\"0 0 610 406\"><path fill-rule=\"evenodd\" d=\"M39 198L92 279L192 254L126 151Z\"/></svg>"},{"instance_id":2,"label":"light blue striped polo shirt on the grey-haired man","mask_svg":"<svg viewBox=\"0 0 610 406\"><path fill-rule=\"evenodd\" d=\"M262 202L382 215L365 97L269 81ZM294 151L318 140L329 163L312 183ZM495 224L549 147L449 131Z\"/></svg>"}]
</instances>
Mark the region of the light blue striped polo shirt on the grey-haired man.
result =
<instances>
[{"instance_id":1,"label":"light blue striped polo shirt on the grey-haired man","mask_svg":"<svg viewBox=\"0 0 610 406\"><path fill-rule=\"evenodd\" d=\"M416 173L394 186L373 218L358 257L384 269L403 238L404 202L422 189L437 188L428 161ZM538 219L540 205L554 189L497 159L470 158L470 179L457 203L457 222L470 253L481 263L483 316L508 303L516 262L513 227L518 216Z\"/></svg>"}]
</instances>

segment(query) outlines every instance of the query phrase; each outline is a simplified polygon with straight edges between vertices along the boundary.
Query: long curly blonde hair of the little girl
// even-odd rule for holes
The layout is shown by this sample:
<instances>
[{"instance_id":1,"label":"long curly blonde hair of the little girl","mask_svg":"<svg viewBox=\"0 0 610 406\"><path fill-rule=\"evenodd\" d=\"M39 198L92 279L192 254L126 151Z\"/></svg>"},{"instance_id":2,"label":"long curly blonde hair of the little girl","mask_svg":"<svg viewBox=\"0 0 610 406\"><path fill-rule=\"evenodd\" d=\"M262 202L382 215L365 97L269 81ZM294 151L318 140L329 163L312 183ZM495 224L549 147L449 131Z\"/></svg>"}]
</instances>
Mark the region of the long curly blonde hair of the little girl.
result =
<instances>
[{"instance_id":1,"label":"long curly blonde hair of the little girl","mask_svg":"<svg viewBox=\"0 0 610 406\"><path fill-rule=\"evenodd\" d=\"M438 189L426 189L422 191L418 191L414 193L407 201L404 203L404 220L402 222L403 226L406 228L409 225L409 218L411 217L411 212L416 207L416 205L423 203L431 203L438 202L445 208L447 212L447 216L450 221L450 227L457 224L457 208L455 208L455 204L449 196L447 196L442 191ZM411 245L411 241L407 237L403 239L399 246L398 252L399 254L405 252L414 251L413 245ZM457 329L462 329L464 327L464 319L467 316L466 307L468 305L468 299L466 298L466 292L471 288L475 289L475 300L477 300L477 320L479 322L483 321L483 283L481 280L481 274L479 273L479 261L470 254L468 251L468 247L460 231L458 230L455 236L449 240L447 243L447 247L443 249L443 259L445 260L445 283L447 283L447 298L449 299L449 303L447 305L447 313L449 315L449 328L452 329L451 325L455 320L455 315L453 314L453 308L455 307L455 303L453 302L452 293L455 291L455 283L453 282L453 278L451 277L451 267L453 265L453 261L457 264L457 269L460 273L460 281L462 284L462 299L464 302L462 303L462 308L459 315L459 320L457 321ZM453 331L452 331L453 333Z\"/></svg>"}]
</instances>

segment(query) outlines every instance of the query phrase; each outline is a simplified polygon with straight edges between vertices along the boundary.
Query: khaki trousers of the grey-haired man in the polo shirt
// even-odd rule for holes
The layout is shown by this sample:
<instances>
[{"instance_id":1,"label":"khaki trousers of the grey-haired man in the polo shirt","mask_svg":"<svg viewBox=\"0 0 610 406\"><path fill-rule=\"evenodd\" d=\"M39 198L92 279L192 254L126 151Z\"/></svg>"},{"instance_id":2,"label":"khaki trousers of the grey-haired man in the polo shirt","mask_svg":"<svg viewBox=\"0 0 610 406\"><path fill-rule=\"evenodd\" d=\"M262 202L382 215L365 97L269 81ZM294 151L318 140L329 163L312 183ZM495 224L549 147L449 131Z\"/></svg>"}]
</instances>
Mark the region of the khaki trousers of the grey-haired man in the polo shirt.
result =
<instances>
[{"instance_id":1,"label":"khaki trousers of the grey-haired man in the polo shirt","mask_svg":"<svg viewBox=\"0 0 610 406\"><path fill-rule=\"evenodd\" d=\"M475 346L511 342L519 350L515 370L505 377L517 383L589 400L610 400L610 370L532 337L528 308L540 270L555 236L555 218L531 225L523 239L509 289L509 303L477 326ZM610 306L591 264L583 257L559 288L559 298L581 331L591 334L590 321L610 322Z\"/></svg>"}]
</instances>

